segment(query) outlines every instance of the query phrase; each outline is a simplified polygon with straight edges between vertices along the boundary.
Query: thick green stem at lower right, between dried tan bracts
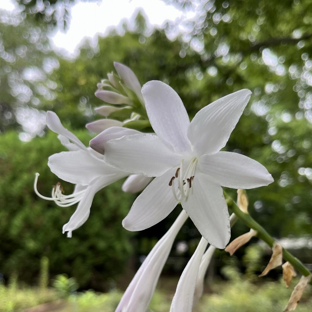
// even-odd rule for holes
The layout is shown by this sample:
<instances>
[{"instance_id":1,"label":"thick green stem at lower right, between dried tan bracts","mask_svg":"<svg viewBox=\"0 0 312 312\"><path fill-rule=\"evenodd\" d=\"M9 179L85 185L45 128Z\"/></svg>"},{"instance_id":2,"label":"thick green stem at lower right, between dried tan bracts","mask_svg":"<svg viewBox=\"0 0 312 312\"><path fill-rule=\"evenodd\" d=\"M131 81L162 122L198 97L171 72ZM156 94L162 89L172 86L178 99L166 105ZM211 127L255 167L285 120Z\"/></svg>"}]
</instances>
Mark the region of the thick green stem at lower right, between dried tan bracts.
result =
<instances>
[{"instance_id":1,"label":"thick green stem at lower right, between dried tan bracts","mask_svg":"<svg viewBox=\"0 0 312 312\"><path fill-rule=\"evenodd\" d=\"M242 212L241 209L237 206L236 202L230 196L228 196L226 192L223 191L223 193L227 199L228 206L232 209L232 212L234 212L236 216L248 227L257 231L257 236L272 248L273 243L275 242L274 238L268 232L266 232L266 230L261 227L261 225L256 222L249 213ZM285 248L283 248L283 258L302 275L308 276L311 274L310 271L303 265L303 263L298 258L294 257Z\"/></svg>"}]
</instances>

